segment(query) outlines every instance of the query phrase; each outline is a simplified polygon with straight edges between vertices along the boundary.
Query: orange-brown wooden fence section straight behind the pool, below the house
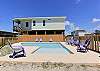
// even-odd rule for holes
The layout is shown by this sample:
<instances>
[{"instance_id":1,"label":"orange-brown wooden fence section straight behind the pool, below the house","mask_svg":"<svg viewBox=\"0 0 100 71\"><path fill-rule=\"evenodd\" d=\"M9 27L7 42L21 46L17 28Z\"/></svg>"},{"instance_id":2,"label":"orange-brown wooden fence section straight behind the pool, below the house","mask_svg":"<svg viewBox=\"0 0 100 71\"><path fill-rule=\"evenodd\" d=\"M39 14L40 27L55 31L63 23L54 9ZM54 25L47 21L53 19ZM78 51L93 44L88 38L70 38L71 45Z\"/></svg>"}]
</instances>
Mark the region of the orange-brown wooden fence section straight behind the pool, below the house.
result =
<instances>
[{"instance_id":1,"label":"orange-brown wooden fence section straight behind the pool, below the house","mask_svg":"<svg viewBox=\"0 0 100 71\"><path fill-rule=\"evenodd\" d=\"M19 42L31 41L35 42L36 39L40 41L42 39L43 42L49 42L52 39L53 42L61 42L64 41L63 35L21 35L18 37Z\"/></svg>"}]
</instances>

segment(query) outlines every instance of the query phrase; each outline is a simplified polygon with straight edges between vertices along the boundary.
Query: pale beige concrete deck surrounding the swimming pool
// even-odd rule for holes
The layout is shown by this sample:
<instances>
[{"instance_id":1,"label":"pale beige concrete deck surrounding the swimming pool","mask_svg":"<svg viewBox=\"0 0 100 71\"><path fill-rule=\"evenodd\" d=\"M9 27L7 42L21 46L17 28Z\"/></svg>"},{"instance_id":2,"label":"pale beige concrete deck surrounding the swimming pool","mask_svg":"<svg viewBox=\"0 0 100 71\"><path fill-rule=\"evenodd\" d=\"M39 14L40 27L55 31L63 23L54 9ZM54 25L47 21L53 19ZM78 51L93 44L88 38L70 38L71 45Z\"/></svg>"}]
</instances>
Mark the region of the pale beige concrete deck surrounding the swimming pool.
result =
<instances>
[{"instance_id":1,"label":"pale beige concrete deck surrounding the swimming pool","mask_svg":"<svg viewBox=\"0 0 100 71\"><path fill-rule=\"evenodd\" d=\"M100 63L99 54L93 51L88 51L87 53L81 53L76 51L75 46L66 45L65 42L61 42L66 48L72 51L74 54L67 53L66 55L62 54L39 54L37 52L32 53L38 47L34 46L25 46L26 57L20 58L9 58L9 55L0 57L1 61L15 61L15 62L62 62L62 63Z\"/></svg>"}]
</instances>

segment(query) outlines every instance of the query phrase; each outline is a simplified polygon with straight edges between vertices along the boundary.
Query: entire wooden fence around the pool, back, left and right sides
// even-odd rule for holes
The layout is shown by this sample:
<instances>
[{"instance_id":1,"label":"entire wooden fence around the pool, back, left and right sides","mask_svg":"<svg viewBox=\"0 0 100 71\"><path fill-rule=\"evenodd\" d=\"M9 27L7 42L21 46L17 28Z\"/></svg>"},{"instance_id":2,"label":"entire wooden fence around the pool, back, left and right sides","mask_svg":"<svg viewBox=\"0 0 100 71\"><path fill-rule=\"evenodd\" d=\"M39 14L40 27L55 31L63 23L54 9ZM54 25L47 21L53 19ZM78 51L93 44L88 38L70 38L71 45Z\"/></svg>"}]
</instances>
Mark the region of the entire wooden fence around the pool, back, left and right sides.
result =
<instances>
[{"instance_id":1,"label":"entire wooden fence around the pool, back, left and right sides","mask_svg":"<svg viewBox=\"0 0 100 71\"><path fill-rule=\"evenodd\" d=\"M17 42L25 42L25 41L32 41L35 42L36 38L40 39L42 38L43 42L48 42L50 38L54 42L63 42L64 40L68 40L72 36L66 36L63 35L23 35L19 37L0 37L0 46L4 46L7 43L7 40L9 39L11 43L17 43ZM91 37L91 43L88 47L88 49L92 51L96 51L100 53L100 35L85 35L85 36L74 36L75 38L79 39L81 42L84 42L87 38Z\"/></svg>"}]
</instances>

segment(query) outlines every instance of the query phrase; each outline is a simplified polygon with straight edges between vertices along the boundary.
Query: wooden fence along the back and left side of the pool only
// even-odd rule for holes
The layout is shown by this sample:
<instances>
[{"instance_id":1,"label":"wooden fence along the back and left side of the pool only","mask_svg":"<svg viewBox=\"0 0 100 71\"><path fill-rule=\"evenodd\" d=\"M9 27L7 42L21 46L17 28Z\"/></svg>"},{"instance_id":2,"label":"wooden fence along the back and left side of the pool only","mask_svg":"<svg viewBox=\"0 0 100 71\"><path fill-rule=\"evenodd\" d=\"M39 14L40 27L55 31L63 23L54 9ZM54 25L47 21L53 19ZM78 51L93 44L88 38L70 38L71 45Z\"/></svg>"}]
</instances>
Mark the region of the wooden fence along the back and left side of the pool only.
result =
<instances>
[{"instance_id":1,"label":"wooden fence along the back and left side of the pool only","mask_svg":"<svg viewBox=\"0 0 100 71\"><path fill-rule=\"evenodd\" d=\"M0 46L8 44L7 40L10 40L11 43L17 42L36 42L36 39L42 42L49 42L52 39L53 42L63 42L63 35L20 35L18 37L0 37Z\"/></svg>"}]
</instances>

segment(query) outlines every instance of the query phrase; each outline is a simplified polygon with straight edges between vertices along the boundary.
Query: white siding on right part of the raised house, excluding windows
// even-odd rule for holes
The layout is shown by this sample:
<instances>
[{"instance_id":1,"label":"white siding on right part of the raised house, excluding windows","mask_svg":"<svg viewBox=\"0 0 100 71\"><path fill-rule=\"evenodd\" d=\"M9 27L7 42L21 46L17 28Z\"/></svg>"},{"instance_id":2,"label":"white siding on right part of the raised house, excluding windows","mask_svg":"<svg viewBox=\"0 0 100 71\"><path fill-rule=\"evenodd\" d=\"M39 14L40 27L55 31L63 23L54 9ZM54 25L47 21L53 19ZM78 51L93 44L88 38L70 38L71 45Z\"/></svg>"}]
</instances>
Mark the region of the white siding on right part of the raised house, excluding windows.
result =
<instances>
[{"instance_id":1,"label":"white siding on right part of the raised house, excluding windows","mask_svg":"<svg viewBox=\"0 0 100 71\"><path fill-rule=\"evenodd\" d=\"M45 20L45 26L43 26L43 20ZM32 30L64 30L65 29L64 26L65 18L36 18L35 21L36 21L35 26L33 26L32 24Z\"/></svg>"}]
</instances>

